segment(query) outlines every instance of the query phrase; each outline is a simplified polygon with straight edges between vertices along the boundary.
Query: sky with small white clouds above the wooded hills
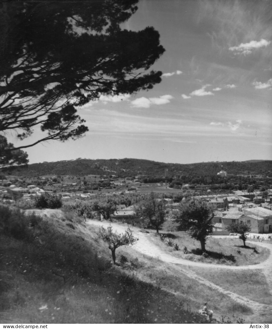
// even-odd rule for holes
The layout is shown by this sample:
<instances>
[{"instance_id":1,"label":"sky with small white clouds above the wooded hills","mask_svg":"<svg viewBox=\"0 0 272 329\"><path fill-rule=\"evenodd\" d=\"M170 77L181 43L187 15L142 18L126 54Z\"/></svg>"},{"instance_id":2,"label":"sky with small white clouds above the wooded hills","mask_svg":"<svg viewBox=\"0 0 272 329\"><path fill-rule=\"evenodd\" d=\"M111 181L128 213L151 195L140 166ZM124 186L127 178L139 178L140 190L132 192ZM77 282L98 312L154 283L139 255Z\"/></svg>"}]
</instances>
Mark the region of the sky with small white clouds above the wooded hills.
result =
<instances>
[{"instance_id":1,"label":"sky with small white clouds above the wooded hills","mask_svg":"<svg viewBox=\"0 0 272 329\"><path fill-rule=\"evenodd\" d=\"M86 136L25 149L29 163L272 160L272 1L139 0L122 27L147 26L166 49L151 67L162 82L85 105Z\"/></svg>"}]
</instances>

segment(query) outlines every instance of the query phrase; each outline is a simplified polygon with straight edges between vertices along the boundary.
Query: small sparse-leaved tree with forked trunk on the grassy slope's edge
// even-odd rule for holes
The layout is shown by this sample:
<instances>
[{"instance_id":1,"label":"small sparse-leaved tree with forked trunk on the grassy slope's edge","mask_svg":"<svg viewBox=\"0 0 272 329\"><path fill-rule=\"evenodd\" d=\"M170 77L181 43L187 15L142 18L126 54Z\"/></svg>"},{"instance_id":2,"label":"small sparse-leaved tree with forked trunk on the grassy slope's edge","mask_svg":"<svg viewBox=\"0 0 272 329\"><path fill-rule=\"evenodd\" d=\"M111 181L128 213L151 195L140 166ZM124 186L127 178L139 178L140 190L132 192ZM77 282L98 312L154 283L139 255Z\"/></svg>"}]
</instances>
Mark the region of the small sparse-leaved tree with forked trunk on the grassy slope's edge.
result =
<instances>
[{"instance_id":1,"label":"small sparse-leaved tree with forked trunk on the grassy slope's edge","mask_svg":"<svg viewBox=\"0 0 272 329\"><path fill-rule=\"evenodd\" d=\"M101 227L100 234L102 237L102 240L108 243L109 249L111 250L112 260L115 264L116 256L115 256L115 250L120 246L126 246L126 245L133 245L135 244L139 239L135 238L132 234L131 229L128 227L125 233L118 234L117 232L113 232L112 226L108 226L107 229L104 227Z\"/></svg>"}]
</instances>

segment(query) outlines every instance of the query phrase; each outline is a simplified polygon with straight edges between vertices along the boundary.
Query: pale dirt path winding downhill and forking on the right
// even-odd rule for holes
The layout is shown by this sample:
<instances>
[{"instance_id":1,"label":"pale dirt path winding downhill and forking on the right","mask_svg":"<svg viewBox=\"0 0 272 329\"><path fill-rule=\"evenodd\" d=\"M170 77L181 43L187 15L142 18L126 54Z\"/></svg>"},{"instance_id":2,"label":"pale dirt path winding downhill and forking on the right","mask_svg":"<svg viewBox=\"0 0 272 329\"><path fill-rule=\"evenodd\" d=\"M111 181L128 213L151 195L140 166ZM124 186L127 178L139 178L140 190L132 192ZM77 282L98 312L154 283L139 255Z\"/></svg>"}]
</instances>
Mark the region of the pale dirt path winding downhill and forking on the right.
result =
<instances>
[{"instance_id":1,"label":"pale dirt path winding downhill and forking on the right","mask_svg":"<svg viewBox=\"0 0 272 329\"><path fill-rule=\"evenodd\" d=\"M108 222L100 222L100 221L88 221L88 224L91 225L96 225L96 226L103 226L103 227L108 227L109 223ZM119 223L110 223L114 230L117 230L118 233L124 233L125 230L127 229L127 226L124 224L119 224ZM258 302L255 302L253 300L250 300L247 297L240 296L232 291L228 291L226 289L223 289L220 286L217 286L213 284L212 282L204 279L203 277L197 275L191 268L193 267L205 267L205 268L224 268L224 269L229 269L229 270L234 270L234 271L240 271L240 270L245 270L245 269L258 269L261 270L267 280L267 284L269 286L270 293L272 295L272 245L269 243L263 244L263 247L266 247L267 249L270 250L270 255L266 261L264 261L261 264L257 265L248 265L248 266L224 266L224 265L216 265L216 264L205 264L205 263L197 263L197 262L192 262L186 259L178 259L176 257L173 257L169 254L164 253L159 247L154 245L152 242L149 241L147 238L147 233L144 233L141 229L133 227L132 231L134 233L134 236L137 237L139 240L138 242L132 246L135 250L139 251L142 254L145 254L147 256L151 256L154 258L158 258L161 261L171 264L172 267L175 269L181 271L185 275L189 276L190 278L193 278L194 280L198 281L201 284L204 284L208 287L211 287L212 289L215 289L223 294L228 295L231 299L234 301L245 304L246 306L250 307L253 312L254 312L254 317L256 316L262 316L265 314L271 314L272 312L272 305L267 305L267 304L261 304ZM260 245L260 242L253 242L250 241L250 243L258 244ZM171 291L174 294L178 294L177 292Z\"/></svg>"}]
</instances>

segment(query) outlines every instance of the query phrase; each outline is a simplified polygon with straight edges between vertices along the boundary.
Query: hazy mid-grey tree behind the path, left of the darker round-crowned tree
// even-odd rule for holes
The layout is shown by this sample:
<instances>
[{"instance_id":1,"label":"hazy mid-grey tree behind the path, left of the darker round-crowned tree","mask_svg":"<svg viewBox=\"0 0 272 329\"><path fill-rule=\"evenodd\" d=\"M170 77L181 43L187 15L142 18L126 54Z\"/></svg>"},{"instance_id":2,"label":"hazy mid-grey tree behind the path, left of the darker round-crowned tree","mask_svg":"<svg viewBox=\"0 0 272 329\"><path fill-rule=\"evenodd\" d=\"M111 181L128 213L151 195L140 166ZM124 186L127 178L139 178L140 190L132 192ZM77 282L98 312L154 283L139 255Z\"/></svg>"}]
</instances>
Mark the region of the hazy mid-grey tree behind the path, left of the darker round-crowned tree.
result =
<instances>
[{"instance_id":1,"label":"hazy mid-grey tree behind the path, left of the darker round-crowned tree","mask_svg":"<svg viewBox=\"0 0 272 329\"><path fill-rule=\"evenodd\" d=\"M153 192L150 193L149 197L134 207L136 217L147 218L148 225L154 228L157 233L161 230L161 225L165 222L165 204L155 198Z\"/></svg>"}]
</instances>

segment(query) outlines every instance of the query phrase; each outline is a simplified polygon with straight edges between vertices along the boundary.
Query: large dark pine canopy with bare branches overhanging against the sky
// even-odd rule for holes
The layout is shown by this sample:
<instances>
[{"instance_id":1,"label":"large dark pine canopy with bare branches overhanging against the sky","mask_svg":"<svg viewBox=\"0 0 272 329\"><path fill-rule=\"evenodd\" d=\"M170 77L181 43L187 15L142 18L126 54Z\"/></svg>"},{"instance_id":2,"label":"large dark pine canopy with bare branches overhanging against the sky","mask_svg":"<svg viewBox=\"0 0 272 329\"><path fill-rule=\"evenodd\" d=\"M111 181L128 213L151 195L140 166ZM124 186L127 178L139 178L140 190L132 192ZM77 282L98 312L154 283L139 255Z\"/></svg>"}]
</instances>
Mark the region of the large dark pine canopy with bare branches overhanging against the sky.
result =
<instances>
[{"instance_id":1,"label":"large dark pine canopy with bare branches overhanging against the sky","mask_svg":"<svg viewBox=\"0 0 272 329\"><path fill-rule=\"evenodd\" d=\"M137 2L2 2L0 132L15 130L19 139L35 127L46 133L20 148L77 139L88 131L77 107L159 83L161 72L144 74L164 52L159 33L120 28Z\"/></svg>"}]
</instances>

